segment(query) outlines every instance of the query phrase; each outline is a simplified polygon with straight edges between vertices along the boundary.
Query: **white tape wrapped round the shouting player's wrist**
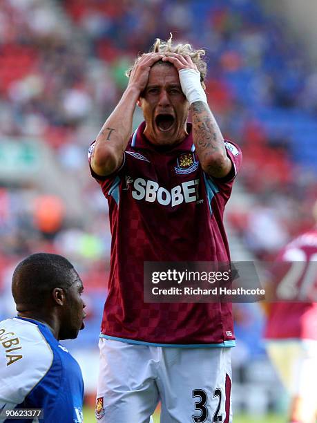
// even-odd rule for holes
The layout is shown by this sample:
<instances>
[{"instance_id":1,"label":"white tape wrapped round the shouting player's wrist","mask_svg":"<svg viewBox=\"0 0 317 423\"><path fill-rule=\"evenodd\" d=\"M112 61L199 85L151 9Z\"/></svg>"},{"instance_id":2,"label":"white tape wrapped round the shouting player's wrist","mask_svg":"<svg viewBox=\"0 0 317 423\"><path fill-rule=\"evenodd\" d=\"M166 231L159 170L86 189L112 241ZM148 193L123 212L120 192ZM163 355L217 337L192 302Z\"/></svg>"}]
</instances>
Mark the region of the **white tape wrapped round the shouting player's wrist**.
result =
<instances>
[{"instance_id":1,"label":"white tape wrapped round the shouting player's wrist","mask_svg":"<svg viewBox=\"0 0 317 423\"><path fill-rule=\"evenodd\" d=\"M180 85L189 104L204 102L207 104L207 97L202 84L200 83L200 72L195 69L180 69Z\"/></svg>"}]
</instances>

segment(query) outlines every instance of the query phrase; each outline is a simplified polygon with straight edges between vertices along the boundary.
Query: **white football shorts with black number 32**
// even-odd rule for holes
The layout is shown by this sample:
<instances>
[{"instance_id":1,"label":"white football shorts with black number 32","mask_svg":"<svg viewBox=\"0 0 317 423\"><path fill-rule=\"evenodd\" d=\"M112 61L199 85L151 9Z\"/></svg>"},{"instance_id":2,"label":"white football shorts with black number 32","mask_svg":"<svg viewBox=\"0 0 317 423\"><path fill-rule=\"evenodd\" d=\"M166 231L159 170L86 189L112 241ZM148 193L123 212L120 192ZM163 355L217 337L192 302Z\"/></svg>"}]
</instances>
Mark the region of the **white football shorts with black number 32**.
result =
<instances>
[{"instance_id":1,"label":"white football shorts with black number 32","mask_svg":"<svg viewBox=\"0 0 317 423\"><path fill-rule=\"evenodd\" d=\"M144 346L101 338L102 423L231 423L231 348Z\"/></svg>"}]
</instances>

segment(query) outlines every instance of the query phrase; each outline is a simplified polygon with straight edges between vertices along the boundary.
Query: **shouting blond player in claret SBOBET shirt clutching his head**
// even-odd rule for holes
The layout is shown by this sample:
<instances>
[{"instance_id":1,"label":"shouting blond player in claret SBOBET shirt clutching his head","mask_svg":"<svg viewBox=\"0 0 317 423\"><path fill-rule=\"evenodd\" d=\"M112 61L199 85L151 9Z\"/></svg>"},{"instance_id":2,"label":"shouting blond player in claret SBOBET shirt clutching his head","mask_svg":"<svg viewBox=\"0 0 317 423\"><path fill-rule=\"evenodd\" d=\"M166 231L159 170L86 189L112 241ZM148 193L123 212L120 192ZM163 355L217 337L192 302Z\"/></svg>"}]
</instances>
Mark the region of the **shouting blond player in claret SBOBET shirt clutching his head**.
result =
<instances>
[{"instance_id":1,"label":"shouting blond player in claret SBOBET shirt clutching his head","mask_svg":"<svg viewBox=\"0 0 317 423\"><path fill-rule=\"evenodd\" d=\"M159 401L163 423L232 421L231 303L145 303L143 292L146 261L230 261L223 214L242 153L209 109L204 53L156 39L89 149L112 233L101 422L148 423Z\"/></svg>"}]
</instances>

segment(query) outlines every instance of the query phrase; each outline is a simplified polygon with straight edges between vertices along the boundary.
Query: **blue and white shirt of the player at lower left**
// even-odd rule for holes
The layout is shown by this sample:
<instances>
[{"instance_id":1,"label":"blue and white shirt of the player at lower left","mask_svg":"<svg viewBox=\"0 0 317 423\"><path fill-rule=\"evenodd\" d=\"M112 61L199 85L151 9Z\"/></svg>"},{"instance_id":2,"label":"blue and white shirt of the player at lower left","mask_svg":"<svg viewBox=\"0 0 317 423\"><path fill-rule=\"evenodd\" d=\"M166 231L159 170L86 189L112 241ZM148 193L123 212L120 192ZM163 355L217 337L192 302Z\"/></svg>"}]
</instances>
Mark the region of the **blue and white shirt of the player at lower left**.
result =
<instances>
[{"instance_id":1,"label":"blue and white shirt of the player at lower left","mask_svg":"<svg viewBox=\"0 0 317 423\"><path fill-rule=\"evenodd\" d=\"M77 361L48 326L15 317L0 322L0 412L43 408L45 423L81 423L84 382ZM0 422L37 422L35 419Z\"/></svg>"}]
</instances>

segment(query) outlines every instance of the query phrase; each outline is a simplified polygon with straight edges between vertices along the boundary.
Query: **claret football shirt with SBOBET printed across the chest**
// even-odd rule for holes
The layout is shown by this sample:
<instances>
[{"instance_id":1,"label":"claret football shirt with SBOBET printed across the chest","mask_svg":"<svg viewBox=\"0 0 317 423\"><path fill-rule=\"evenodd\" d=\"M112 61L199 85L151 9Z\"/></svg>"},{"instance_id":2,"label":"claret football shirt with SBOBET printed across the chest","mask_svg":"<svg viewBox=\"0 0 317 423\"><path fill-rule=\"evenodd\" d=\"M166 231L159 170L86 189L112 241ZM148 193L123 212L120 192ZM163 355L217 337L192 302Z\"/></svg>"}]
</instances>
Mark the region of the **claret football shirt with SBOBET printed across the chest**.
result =
<instances>
[{"instance_id":1,"label":"claret football shirt with SBOBET printed across the chest","mask_svg":"<svg viewBox=\"0 0 317 423\"><path fill-rule=\"evenodd\" d=\"M143 122L131 137L122 167L93 177L108 200L111 272L102 336L155 345L233 346L230 303L144 303L144 261L227 262L222 222L242 153L225 142L233 163L227 178L202 171L189 135L169 149L146 140ZM94 144L90 146L90 154Z\"/></svg>"}]
</instances>

